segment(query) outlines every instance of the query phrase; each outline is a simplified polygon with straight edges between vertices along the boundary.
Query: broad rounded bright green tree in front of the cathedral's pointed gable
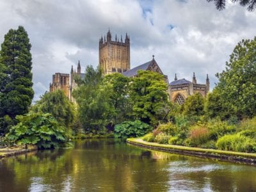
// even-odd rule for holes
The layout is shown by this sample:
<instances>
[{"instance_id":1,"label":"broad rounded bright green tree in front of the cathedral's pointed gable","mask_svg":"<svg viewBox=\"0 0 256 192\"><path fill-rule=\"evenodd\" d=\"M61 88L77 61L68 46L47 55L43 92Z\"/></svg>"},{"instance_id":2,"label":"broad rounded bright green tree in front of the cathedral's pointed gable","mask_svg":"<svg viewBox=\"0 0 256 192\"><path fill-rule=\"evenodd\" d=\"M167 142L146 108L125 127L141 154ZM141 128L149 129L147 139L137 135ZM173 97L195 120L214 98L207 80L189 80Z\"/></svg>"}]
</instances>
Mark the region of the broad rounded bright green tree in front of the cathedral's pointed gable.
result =
<instances>
[{"instance_id":1,"label":"broad rounded bright green tree in front of the cathedral's pointed gable","mask_svg":"<svg viewBox=\"0 0 256 192\"><path fill-rule=\"evenodd\" d=\"M139 70L132 79L130 99L132 115L141 121L156 126L170 111L168 85L164 76L148 70Z\"/></svg>"}]
</instances>

